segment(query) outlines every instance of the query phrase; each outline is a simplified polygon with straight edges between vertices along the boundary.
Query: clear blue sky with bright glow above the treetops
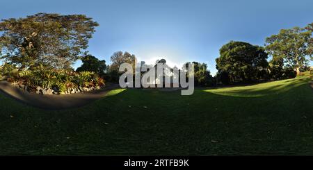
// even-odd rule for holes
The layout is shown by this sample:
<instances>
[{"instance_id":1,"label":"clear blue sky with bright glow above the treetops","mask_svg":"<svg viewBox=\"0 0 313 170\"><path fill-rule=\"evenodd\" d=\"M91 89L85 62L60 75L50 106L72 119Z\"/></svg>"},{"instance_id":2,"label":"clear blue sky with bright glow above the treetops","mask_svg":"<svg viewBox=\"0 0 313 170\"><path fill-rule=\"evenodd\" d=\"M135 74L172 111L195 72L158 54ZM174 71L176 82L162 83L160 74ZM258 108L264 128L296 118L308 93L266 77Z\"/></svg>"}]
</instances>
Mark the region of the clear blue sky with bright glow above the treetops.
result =
<instances>
[{"instance_id":1,"label":"clear blue sky with bright glow above the treetops","mask_svg":"<svg viewBox=\"0 0 313 170\"><path fill-rule=\"evenodd\" d=\"M128 51L147 64L161 58L172 67L205 62L214 75L223 44L263 46L282 28L307 26L313 22L313 1L1 0L0 19L37 12L92 17L99 26L88 51L108 64L115 51Z\"/></svg>"}]
</instances>

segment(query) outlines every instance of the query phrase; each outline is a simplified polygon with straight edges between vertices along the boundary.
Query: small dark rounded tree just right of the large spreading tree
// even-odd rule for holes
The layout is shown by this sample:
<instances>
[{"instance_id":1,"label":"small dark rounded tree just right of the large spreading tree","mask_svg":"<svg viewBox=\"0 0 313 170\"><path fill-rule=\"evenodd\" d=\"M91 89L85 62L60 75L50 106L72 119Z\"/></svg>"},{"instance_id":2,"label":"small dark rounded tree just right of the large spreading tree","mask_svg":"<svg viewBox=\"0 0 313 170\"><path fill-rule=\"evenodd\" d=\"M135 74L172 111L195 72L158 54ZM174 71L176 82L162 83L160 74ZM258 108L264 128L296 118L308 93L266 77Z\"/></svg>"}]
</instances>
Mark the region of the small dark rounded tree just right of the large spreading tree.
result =
<instances>
[{"instance_id":1,"label":"small dark rounded tree just right of the large spreading tree","mask_svg":"<svg viewBox=\"0 0 313 170\"><path fill-rule=\"evenodd\" d=\"M103 75L106 71L106 61L98 60L95 56L87 55L81 58L83 65L78 67L76 71L93 71L96 74Z\"/></svg>"}]
</instances>

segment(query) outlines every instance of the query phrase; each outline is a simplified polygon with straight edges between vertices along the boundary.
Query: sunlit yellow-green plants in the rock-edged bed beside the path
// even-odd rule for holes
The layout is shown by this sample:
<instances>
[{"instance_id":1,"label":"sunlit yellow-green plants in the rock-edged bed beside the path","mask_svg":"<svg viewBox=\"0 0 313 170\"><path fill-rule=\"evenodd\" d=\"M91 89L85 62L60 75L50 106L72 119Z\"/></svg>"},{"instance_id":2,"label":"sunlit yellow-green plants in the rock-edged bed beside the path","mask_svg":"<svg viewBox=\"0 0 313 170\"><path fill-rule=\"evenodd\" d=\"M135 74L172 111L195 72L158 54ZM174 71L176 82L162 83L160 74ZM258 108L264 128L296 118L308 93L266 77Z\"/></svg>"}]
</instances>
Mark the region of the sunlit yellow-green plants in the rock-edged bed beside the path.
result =
<instances>
[{"instance_id":1,"label":"sunlit yellow-green plants in the rock-edged bed beside the path","mask_svg":"<svg viewBox=\"0 0 313 170\"><path fill-rule=\"evenodd\" d=\"M12 71L9 71L10 73ZM72 93L79 91L89 91L104 87L104 79L90 71L75 72L65 69L52 69L42 65L31 70L18 71L16 74L8 75L10 83L17 84L17 87L27 86L29 92L42 89L51 89L56 93ZM87 88L87 89L86 89Z\"/></svg>"}]
</instances>

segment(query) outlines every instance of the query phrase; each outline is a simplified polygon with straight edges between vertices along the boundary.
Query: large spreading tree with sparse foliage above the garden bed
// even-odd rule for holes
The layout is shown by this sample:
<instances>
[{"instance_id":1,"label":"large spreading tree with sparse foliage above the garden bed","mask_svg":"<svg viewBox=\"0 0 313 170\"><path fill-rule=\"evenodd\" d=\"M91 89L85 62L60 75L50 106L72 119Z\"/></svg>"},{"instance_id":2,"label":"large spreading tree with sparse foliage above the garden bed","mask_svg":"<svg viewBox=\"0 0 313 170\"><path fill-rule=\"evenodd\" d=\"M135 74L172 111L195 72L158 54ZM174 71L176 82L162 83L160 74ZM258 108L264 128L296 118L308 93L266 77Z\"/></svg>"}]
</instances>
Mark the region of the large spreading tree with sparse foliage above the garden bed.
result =
<instances>
[{"instance_id":1,"label":"large spreading tree with sparse foliage above the garden bed","mask_svg":"<svg viewBox=\"0 0 313 170\"><path fill-rule=\"evenodd\" d=\"M69 68L86 55L97 22L86 15L38 13L0 22L1 58L22 69L42 64Z\"/></svg>"}]
</instances>

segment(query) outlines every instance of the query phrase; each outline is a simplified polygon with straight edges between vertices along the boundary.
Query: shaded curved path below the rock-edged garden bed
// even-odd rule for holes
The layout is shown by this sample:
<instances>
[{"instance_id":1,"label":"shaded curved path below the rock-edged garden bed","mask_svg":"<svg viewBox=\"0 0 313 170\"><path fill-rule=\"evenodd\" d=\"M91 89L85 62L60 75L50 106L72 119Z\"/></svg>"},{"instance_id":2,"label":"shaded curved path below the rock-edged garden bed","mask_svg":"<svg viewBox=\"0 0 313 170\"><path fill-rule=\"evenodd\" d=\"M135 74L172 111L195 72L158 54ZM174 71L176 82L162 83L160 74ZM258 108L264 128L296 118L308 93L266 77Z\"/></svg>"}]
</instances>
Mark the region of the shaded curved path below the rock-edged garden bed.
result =
<instances>
[{"instance_id":1,"label":"shaded curved path below the rock-edged garden bed","mask_svg":"<svg viewBox=\"0 0 313 170\"><path fill-rule=\"evenodd\" d=\"M63 110L69 108L78 108L101 99L106 96L110 90L119 88L119 85L109 85L104 90L95 90L93 92L82 92L77 94L63 94L63 95L42 95L31 94L13 87L6 81L0 81L0 92L17 101L32 105L36 108L45 110Z\"/></svg>"}]
</instances>

